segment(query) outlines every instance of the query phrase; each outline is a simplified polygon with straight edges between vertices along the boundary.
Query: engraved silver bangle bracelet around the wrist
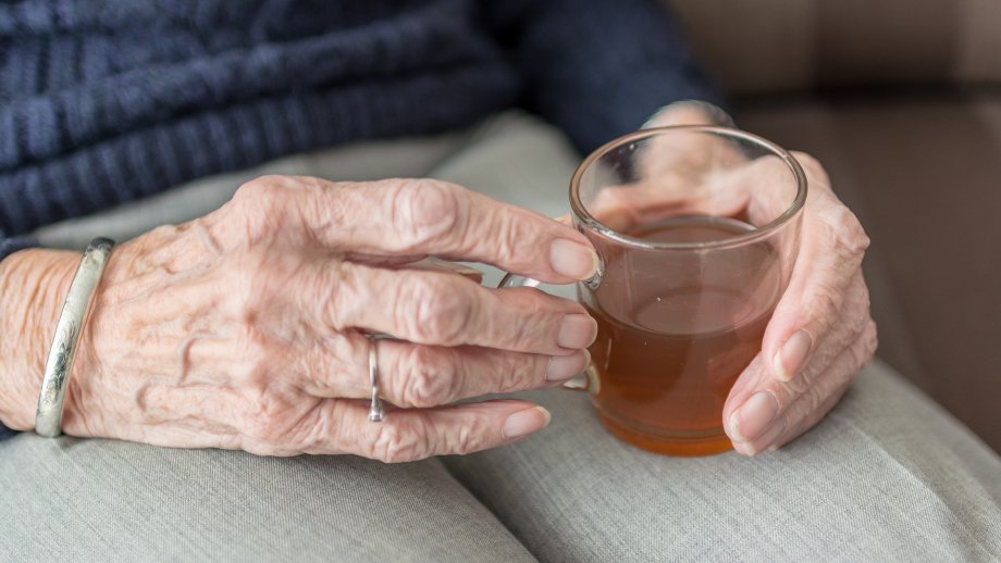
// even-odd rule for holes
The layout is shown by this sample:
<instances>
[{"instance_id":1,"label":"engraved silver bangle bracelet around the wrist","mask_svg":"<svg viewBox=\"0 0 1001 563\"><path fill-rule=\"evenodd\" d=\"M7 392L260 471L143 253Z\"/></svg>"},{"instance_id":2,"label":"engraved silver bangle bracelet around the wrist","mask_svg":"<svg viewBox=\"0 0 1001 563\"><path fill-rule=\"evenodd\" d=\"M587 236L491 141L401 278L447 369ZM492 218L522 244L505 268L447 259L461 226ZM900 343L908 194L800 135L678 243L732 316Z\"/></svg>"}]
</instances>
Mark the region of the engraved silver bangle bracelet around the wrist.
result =
<instances>
[{"instance_id":1,"label":"engraved silver bangle bracelet around the wrist","mask_svg":"<svg viewBox=\"0 0 1001 563\"><path fill-rule=\"evenodd\" d=\"M90 241L76 268L73 283L70 284L70 293L59 315L52 348L46 360L41 392L38 395L38 410L35 412L35 431L47 438L55 438L62 434L63 403L66 400L66 386L70 383L73 359L76 356L76 346L79 343L79 334L94 301L95 289L101 280L101 274L104 273L104 263L111 255L113 246L114 241L107 238Z\"/></svg>"}]
</instances>

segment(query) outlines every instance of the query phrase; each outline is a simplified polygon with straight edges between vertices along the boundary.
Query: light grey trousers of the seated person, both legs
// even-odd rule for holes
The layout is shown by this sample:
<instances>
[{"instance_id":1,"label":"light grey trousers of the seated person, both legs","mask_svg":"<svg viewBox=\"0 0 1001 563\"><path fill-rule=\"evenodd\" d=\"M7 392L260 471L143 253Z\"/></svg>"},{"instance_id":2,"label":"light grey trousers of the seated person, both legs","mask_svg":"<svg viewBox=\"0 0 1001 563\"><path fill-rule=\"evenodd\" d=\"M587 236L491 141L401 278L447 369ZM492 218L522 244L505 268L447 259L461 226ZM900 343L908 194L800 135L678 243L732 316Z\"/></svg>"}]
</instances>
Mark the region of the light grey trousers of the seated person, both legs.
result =
<instances>
[{"instance_id":1,"label":"light grey trousers of the seated person, both legs","mask_svg":"<svg viewBox=\"0 0 1001 563\"><path fill-rule=\"evenodd\" d=\"M564 212L578 155L555 130L508 115L473 138L409 146L413 158L393 174ZM369 147L347 160L398 162L399 150ZM343 177L343 152L324 154L259 172ZM371 168L350 175L384 172ZM137 204L139 215L210 211L243 179L207 179L187 199ZM123 235L152 226L134 225L136 213L42 238L81 243L109 224ZM1001 559L998 456L883 367L865 370L817 428L755 459L648 454L608 435L582 393L531 397L554 415L541 435L399 466L20 436L0 442L0 510L16 515L0 526L0 560Z\"/></svg>"}]
</instances>

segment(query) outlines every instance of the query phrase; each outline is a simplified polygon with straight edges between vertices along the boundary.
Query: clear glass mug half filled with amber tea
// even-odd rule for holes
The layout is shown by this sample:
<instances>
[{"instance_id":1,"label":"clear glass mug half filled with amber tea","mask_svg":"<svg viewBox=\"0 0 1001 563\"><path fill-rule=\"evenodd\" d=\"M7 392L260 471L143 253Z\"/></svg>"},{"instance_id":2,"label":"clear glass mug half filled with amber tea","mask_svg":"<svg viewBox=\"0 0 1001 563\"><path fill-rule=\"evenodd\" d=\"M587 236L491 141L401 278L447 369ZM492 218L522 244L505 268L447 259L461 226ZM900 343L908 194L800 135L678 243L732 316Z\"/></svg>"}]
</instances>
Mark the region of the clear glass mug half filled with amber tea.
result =
<instances>
[{"instance_id":1,"label":"clear glass mug half filled with amber tea","mask_svg":"<svg viewBox=\"0 0 1001 563\"><path fill-rule=\"evenodd\" d=\"M789 152L726 127L643 129L581 163L571 220L601 265L577 293L598 334L568 387L615 436L672 455L731 448L724 403L789 283L805 201ZM501 282L522 285L539 284Z\"/></svg>"}]
</instances>

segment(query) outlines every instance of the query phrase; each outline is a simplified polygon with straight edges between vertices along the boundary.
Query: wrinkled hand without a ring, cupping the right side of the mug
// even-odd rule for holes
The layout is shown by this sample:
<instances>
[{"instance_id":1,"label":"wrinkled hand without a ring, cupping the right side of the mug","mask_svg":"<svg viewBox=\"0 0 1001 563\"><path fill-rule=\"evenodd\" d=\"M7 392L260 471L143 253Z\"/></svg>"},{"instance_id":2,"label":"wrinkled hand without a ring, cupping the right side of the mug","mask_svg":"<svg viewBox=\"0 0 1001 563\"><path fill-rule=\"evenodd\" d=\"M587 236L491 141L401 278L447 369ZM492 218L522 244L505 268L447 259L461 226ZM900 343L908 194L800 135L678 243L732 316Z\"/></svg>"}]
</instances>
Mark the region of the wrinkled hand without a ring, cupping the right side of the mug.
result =
<instances>
[{"instance_id":1,"label":"wrinkled hand without a ring, cupping the right side of the mug","mask_svg":"<svg viewBox=\"0 0 1001 563\"><path fill-rule=\"evenodd\" d=\"M655 123L685 124L712 124L712 120L697 108L681 104L663 112ZM715 151L715 158L719 158L719 151L726 148L666 149L659 154L669 154L669 161L662 159L657 164L658 151L651 151L652 158L644 165L665 170L669 166L672 183L697 183L707 190L707 202L716 201L712 197L714 186L726 185L732 193L734 185L767 184L769 174L778 173L775 162L762 160L725 176L707 178L705 155ZM823 166L808 154L794 157L808 184L795 267L765 331L762 352L740 375L724 406L727 434L734 449L747 455L778 448L819 422L858 370L872 360L877 343L868 288L862 275L869 239L855 215L835 196ZM662 198L654 202L662 209L672 201L669 191L651 186L637 209L646 209L653 198ZM731 215L746 210L752 217L762 212L775 216L776 205L781 202L769 200L768 190L749 189L721 204L727 208L697 211ZM638 211L617 216L627 223L642 221Z\"/></svg>"}]
</instances>

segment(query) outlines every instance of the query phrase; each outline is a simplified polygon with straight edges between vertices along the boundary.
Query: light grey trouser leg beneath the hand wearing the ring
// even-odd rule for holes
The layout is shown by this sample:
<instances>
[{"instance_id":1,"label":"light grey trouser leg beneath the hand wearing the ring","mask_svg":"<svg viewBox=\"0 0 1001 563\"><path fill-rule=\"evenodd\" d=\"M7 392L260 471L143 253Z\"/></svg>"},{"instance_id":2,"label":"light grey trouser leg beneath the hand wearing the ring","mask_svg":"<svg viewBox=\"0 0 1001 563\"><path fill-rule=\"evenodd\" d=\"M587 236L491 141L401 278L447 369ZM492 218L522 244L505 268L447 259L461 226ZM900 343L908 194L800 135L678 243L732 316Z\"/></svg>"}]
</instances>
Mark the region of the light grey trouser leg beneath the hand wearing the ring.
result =
<instances>
[{"instance_id":1,"label":"light grey trouser leg beneath the hand wearing the ring","mask_svg":"<svg viewBox=\"0 0 1001 563\"><path fill-rule=\"evenodd\" d=\"M437 460L0 442L0 561L534 561Z\"/></svg>"}]
</instances>

